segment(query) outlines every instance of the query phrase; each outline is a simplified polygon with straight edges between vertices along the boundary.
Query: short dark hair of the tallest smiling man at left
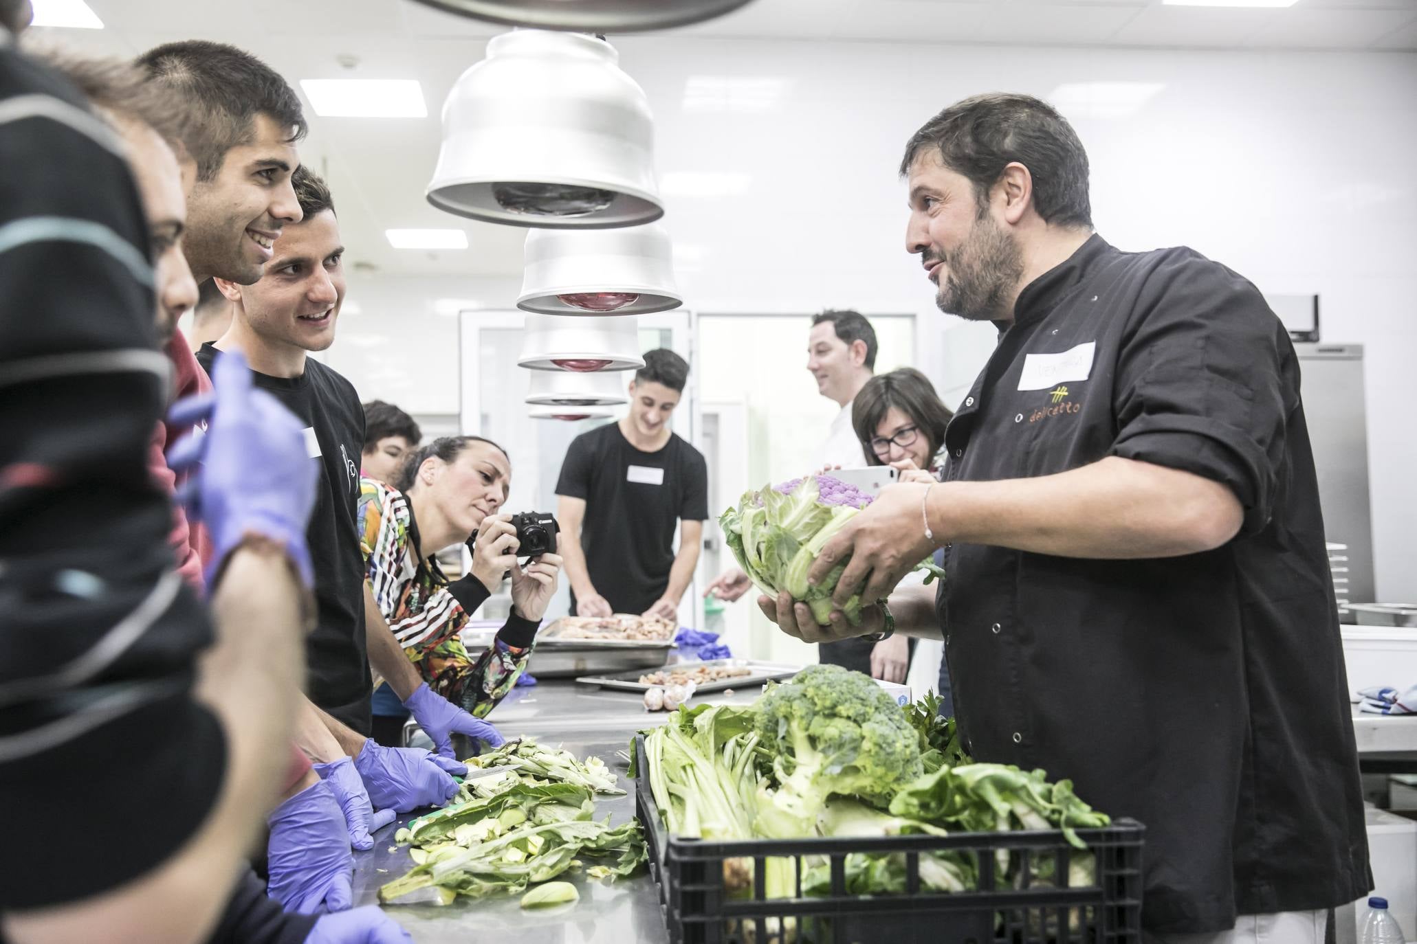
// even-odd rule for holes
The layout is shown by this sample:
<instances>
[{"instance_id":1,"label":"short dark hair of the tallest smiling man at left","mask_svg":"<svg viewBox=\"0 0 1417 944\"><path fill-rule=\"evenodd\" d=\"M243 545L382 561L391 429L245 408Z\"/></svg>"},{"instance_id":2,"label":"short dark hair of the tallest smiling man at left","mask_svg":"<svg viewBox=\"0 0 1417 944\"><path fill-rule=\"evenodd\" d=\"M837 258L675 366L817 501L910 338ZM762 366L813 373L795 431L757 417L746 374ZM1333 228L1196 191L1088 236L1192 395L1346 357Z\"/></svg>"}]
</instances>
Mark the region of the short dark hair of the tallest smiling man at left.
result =
<instances>
[{"instance_id":1,"label":"short dark hair of the tallest smiling man at left","mask_svg":"<svg viewBox=\"0 0 1417 944\"><path fill-rule=\"evenodd\" d=\"M197 161L197 180L213 180L227 151L255 139L258 115L288 129L288 144L305 137L305 113L295 89L249 52L224 42L184 40L149 50L137 57L137 65L203 115L183 142Z\"/></svg>"}]
</instances>

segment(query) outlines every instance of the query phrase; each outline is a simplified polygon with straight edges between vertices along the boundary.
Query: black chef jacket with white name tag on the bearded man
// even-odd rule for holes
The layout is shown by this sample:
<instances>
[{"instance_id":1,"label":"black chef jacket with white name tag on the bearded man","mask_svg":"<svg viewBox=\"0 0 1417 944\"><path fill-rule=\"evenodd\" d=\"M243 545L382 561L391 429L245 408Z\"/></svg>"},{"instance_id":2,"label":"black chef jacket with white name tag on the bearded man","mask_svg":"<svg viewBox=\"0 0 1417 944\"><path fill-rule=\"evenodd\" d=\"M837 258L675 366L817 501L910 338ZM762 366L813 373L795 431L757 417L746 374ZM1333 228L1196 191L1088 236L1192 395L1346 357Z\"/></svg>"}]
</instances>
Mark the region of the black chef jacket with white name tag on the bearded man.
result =
<instances>
[{"instance_id":1,"label":"black chef jacket with white name tag on the bearded man","mask_svg":"<svg viewBox=\"0 0 1417 944\"><path fill-rule=\"evenodd\" d=\"M1107 456L1226 484L1240 534L1183 558L955 545L939 592L979 760L1146 825L1144 924L1230 928L1372 887L1299 368L1260 292L1094 235L1029 284L951 422L949 480Z\"/></svg>"}]
</instances>

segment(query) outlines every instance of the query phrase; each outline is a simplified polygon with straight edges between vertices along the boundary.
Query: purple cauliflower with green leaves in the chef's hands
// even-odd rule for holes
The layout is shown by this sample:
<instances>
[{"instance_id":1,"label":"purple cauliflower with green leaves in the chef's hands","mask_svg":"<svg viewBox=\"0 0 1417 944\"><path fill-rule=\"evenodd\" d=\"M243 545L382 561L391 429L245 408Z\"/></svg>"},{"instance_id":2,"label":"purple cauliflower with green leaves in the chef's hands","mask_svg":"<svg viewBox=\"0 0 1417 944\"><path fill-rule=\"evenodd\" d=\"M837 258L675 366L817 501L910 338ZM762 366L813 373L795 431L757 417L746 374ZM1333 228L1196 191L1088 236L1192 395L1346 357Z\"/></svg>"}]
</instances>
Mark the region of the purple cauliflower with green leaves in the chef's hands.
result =
<instances>
[{"instance_id":1,"label":"purple cauliflower with green leaves in the chef's hands","mask_svg":"<svg viewBox=\"0 0 1417 944\"><path fill-rule=\"evenodd\" d=\"M760 590L774 597L786 590L826 626L835 609L832 593L846 560L816 586L809 585L806 576L826 543L870 501L870 495L839 478L806 476L775 488L765 485L744 493L735 508L720 515L718 524L738 565ZM944 576L932 560L922 560L915 569L927 572L927 583ZM852 626L860 624L860 597L852 596L842 611Z\"/></svg>"}]
</instances>

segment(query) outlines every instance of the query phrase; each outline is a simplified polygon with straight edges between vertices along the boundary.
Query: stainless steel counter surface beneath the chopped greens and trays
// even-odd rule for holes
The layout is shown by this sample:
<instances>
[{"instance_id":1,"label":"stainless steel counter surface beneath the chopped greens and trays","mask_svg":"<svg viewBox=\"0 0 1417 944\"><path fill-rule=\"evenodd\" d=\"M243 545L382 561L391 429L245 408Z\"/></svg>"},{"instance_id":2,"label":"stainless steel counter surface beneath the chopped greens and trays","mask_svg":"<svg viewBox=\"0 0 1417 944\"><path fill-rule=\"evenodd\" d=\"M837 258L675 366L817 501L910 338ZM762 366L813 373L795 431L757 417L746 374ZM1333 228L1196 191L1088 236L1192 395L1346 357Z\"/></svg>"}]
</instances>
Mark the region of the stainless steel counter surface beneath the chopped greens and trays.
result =
<instances>
[{"instance_id":1,"label":"stainless steel counter surface beneath the chopped greens and trays","mask_svg":"<svg viewBox=\"0 0 1417 944\"><path fill-rule=\"evenodd\" d=\"M704 702L751 702L758 688L733 695L716 693ZM530 735L548 744L560 744L578 757L595 754L619 776L625 797L597 797L597 815L611 814L619 824L632 818L635 784L626 776L626 763L616 757L636 730L652 727L666 718L648 713L639 695L602 692L570 681L544 681L519 688L497 706L492 720L507 737ZM354 853L354 906L378 902L378 886L397 879L412 868L408 846L395 846L394 834L417 818L400 817L380 829L374 848ZM459 899L453 904L434 903L432 893L418 893L384 911L408 928L415 941L490 941L516 936L517 944L631 944L667 941L659 913L659 897L648 872L614 883L584 875L560 876L580 889L581 900L570 907L523 911L520 896L489 896L480 900ZM419 897L422 896L422 897Z\"/></svg>"}]
</instances>

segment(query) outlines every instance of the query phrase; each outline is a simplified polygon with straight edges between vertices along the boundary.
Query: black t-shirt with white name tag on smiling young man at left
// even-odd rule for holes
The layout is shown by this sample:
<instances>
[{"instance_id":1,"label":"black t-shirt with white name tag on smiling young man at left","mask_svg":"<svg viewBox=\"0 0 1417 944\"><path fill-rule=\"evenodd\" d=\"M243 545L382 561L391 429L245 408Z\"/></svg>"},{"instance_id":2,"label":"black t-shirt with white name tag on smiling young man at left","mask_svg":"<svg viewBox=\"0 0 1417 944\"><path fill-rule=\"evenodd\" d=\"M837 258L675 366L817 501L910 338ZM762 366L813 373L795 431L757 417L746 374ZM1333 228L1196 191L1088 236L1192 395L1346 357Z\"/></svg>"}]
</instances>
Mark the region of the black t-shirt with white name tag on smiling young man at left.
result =
<instances>
[{"instance_id":1,"label":"black t-shirt with white name tag on smiling young man at left","mask_svg":"<svg viewBox=\"0 0 1417 944\"><path fill-rule=\"evenodd\" d=\"M208 374L217 354L211 344L197 352ZM252 375L258 388L300 418L310 456L320 460L306 531L319 609L319 623L305 641L307 692L312 702L367 735L373 677L364 645L364 556L357 525L364 408L349 381L313 358L296 378Z\"/></svg>"}]
</instances>

